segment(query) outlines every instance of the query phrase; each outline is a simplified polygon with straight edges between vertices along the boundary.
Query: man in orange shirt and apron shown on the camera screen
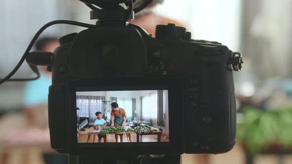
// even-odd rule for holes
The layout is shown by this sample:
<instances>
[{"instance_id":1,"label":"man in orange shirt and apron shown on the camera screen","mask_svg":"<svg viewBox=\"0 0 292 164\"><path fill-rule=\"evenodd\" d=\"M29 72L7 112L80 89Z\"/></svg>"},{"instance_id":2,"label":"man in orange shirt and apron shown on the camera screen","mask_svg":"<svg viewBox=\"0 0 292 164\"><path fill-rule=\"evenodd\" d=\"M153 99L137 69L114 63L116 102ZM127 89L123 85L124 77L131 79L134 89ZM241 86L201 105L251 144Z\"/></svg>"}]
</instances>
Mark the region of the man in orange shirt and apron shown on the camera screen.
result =
<instances>
[{"instance_id":1,"label":"man in orange shirt and apron shown on the camera screen","mask_svg":"<svg viewBox=\"0 0 292 164\"><path fill-rule=\"evenodd\" d=\"M111 103L111 126L124 126L127 121L126 111L123 108L119 108L118 103ZM121 142L123 142L123 134L115 134L116 142L118 142L118 135Z\"/></svg>"}]
</instances>

